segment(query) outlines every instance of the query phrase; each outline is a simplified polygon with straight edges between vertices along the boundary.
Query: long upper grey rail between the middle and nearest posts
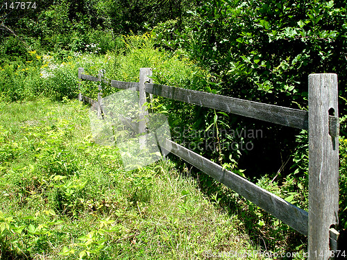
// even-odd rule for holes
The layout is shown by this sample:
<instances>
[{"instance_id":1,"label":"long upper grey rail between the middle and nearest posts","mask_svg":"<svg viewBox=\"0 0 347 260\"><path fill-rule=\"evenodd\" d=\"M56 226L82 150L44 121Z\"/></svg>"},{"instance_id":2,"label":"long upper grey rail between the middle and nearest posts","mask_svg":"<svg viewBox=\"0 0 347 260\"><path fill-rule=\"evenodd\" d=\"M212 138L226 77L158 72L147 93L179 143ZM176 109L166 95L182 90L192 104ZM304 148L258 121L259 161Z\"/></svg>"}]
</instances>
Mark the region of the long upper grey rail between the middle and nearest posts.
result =
<instances>
[{"instance_id":1,"label":"long upper grey rail between the middle and nearest posts","mask_svg":"<svg viewBox=\"0 0 347 260\"><path fill-rule=\"evenodd\" d=\"M293 128L308 128L308 114L303 110L165 85L146 84L146 92Z\"/></svg>"}]
</instances>

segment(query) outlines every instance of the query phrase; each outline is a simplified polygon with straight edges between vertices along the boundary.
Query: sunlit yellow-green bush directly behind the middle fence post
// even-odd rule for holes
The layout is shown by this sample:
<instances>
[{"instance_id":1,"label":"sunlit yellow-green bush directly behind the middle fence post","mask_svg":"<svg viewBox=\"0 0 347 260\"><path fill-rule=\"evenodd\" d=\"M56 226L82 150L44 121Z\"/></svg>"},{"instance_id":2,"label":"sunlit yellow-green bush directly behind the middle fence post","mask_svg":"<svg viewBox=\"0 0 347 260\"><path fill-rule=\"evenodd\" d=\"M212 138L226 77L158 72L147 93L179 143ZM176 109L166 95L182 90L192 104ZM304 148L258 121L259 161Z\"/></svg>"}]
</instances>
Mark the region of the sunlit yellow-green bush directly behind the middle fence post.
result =
<instances>
[{"instance_id":1,"label":"sunlit yellow-green bush directly behind the middle fence post","mask_svg":"<svg viewBox=\"0 0 347 260\"><path fill-rule=\"evenodd\" d=\"M144 35L130 35L124 38L126 48L121 53L109 53L105 57L109 60L105 66L105 76L108 78L124 81L139 81L139 69L153 68L153 79L160 84L187 87L188 80L208 73L185 58L184 52L174 55L156 49L153 36L149 33ZM191 87L198 89L198 84Z\"/></svg>"}]
</instances>

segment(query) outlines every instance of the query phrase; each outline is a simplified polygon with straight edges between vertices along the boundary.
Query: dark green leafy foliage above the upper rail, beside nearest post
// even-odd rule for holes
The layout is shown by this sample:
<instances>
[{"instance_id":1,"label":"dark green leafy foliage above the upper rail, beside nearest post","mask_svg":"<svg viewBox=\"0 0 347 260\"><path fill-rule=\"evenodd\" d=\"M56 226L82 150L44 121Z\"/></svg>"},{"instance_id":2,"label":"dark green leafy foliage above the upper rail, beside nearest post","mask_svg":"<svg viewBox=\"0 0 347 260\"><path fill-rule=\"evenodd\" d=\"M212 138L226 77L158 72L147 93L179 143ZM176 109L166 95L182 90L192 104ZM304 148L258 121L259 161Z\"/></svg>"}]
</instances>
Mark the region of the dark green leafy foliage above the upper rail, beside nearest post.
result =
<instances>
[{"instance_id":1,"label":"dark green leafy foliage above the upper rail, beside nearest post","mask_svg":"<svg viewBox=\"0 0 347 260\"><path fill-rule=\"evenodd\" d=\"M191 14L180 46L226 93L298 108L294 101L307 105L307 76L326 72L339 74L345 93L345 1L221 0Z\"/></svg>"}]
</instances>

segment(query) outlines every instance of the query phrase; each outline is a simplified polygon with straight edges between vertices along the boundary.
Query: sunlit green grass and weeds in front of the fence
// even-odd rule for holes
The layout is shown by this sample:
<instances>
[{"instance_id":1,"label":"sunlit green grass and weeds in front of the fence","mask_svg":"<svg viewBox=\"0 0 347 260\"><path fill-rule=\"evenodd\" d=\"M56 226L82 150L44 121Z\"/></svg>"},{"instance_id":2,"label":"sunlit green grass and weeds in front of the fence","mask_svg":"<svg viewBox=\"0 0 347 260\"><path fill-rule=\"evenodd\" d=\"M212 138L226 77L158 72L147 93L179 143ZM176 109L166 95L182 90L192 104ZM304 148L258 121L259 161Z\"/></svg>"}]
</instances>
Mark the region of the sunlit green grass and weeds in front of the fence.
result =
<instances>
[{"instance_id":1,"label":"sunlit green grass and weeds in front of the fence","mask_svg":"<svg viewBox=\"0 0 347 260\"><path fill-rule=\"evenodd\" d=\"M117 148L94 144L89 123L88 107L76 101L0 103L1 259L206 259L208 250L257 250L239 220L173 162L126 172Z\"/></svg>"}]
</instances>

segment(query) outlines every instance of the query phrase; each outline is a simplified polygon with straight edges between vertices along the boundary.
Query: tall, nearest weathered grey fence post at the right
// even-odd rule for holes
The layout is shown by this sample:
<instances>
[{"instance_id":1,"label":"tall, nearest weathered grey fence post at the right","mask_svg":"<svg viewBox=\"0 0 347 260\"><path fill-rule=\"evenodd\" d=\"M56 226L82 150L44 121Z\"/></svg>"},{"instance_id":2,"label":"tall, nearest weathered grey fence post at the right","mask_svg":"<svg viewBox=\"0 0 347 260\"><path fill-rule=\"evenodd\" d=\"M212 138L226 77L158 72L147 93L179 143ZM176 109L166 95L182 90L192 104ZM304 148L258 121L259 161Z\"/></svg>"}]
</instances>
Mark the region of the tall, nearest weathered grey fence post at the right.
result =
<instances>
[{"instance_id":1,"label":"tall, nearest weathered grey fence post at the right","mask_svg":"<svg viewBox=\"0 0 347 260\"><path fill-rule=\"evenodd\" d=\"M337 75L309 76L308 259L330 258L330 226L338 224L339 138L329 135L329 110L338 116Z\"/></svg>"}]
</instances>

